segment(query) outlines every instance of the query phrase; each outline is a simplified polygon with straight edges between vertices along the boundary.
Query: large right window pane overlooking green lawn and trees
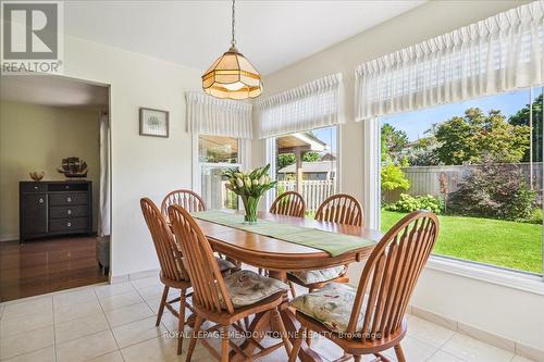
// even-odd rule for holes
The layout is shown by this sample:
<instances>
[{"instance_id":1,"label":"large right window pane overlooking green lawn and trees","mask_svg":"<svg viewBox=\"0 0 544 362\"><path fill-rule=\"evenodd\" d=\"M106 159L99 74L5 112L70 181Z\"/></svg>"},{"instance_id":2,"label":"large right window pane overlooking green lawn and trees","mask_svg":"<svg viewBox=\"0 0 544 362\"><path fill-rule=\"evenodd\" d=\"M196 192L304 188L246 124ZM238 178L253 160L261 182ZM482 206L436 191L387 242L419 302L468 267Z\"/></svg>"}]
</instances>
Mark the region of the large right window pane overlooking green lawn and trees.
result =
<instances>
[{"instance_id":1,"label":"large right window pane overlooking green lawn and trees","mask_svg":"<svg viewBox=\"0 0 544 362\"><path fill-rule=\"evenodd\" d=\"M543 88L382 120L382 230L441 216L434 254L542 274Z\"/></svg>"}]
</instances>

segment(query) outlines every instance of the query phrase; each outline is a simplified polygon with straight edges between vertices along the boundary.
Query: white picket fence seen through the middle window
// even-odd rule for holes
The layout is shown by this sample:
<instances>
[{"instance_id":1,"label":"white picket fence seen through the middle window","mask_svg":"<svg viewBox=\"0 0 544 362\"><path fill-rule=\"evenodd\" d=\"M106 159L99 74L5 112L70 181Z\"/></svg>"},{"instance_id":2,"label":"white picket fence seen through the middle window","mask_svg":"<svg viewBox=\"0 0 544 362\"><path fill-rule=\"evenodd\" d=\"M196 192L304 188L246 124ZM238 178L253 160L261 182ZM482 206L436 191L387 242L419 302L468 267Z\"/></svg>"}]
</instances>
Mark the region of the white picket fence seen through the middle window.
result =
<instances>
[{"instance_id":1,"label":"white picket fence seen through the middle window","mask_svg":"<svg viewBox=\"0 0 544 362\"><path fill-rule=\"evenodd\" d=\"M296 191L295 180L277 182L279 191ZM316 212L319 205L330 196L336 194L335 179L302 180L302 198L306 211Z\"/></svg>"}]
</instances>

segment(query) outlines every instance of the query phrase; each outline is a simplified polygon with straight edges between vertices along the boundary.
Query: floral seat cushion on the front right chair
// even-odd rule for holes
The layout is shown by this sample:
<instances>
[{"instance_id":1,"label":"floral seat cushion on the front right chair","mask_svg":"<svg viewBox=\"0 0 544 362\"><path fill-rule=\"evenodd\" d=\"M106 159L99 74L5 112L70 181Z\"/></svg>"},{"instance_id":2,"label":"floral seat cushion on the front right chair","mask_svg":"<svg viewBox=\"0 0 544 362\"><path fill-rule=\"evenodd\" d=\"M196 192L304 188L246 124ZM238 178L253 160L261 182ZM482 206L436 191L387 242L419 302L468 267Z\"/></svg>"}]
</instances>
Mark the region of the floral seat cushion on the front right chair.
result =
<instances>
[{"instance_id":1,"label":"floral seat cushion on the front right chair","mask_svg":"<svg viewBox=\"0 0 544 362\"><path fill-rule=\"evenodd\" d=\"M290 307L333 332L347 332L356 295L357 290L347 284L331 283L322 289L295 298ZM364 308L361 308L357 322L358 330L362 328L363 312Z\"/></svg>"}]
</instances>

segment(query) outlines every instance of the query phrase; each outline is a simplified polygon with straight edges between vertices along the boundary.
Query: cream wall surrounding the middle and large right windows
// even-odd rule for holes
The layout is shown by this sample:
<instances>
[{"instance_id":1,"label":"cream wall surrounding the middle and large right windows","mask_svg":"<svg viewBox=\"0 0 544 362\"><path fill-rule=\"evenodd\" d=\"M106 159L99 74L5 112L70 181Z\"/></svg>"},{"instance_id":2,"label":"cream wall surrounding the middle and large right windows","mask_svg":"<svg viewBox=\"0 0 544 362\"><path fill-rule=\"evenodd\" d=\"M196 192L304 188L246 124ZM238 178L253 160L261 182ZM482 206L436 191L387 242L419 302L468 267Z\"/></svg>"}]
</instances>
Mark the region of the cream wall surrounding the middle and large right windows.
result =
<instances>
[{"instance_id":1,"label":"cream wall surrounding the middle and large right windows","mask_svg":"<svg viewBox=\"0 0 544 362\"><path fill-rule=\"evenodd\" d=\"M341 188L362 198L363 127L354 122L354 70L368 60L471 24L524 1L430 1L264 78L267 97L342 72L346 124L342 126ZM264 142L254 141L254 166L263 164ZM349 177L347 177L349 175ZM357 283L361 267L351 270ZM544 350L544 297L426 270L416 307Z\"/></svg>"}]
</instances>

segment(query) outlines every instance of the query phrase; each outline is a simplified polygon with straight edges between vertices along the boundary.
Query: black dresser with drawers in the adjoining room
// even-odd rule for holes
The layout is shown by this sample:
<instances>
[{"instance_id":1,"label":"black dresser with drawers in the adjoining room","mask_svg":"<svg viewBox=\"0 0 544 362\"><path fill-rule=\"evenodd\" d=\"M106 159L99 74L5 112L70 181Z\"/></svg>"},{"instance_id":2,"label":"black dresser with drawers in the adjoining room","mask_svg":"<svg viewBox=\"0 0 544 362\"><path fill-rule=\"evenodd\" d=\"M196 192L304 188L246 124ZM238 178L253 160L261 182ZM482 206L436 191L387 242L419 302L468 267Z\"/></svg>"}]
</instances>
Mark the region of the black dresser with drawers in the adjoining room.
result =
<instances>
[{"instance_id":1,"label":"black dresser with drawers in the adjoining room","mask_svg":"<svg viewBox=\"0 0 544 362\"><path fill-rule=\"evenodd\" d=\"M21 182L20 242L47 236L92 233L88 180Z\"/></svg>"}]
</instances>

